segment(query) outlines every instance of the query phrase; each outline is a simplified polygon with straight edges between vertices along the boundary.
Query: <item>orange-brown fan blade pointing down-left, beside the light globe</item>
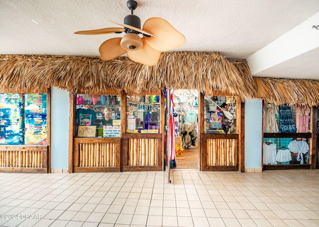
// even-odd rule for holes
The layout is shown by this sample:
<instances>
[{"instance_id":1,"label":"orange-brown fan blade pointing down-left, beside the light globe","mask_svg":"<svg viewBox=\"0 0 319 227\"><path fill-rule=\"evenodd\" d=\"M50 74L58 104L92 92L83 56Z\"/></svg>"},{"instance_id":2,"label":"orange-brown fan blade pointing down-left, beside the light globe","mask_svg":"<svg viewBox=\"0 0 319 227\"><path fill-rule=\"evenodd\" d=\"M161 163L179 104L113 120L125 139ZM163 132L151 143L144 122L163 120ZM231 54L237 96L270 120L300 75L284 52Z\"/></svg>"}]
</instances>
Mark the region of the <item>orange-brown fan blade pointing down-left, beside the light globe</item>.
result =
<instances>
[{"instance_id":1,"label":"orange-brown fan blade pointing down-left, beside the light globe","mask_svg":"<svg viewBox=\"0 0 319 227\"><path fill-rule=\"evenodd\" d=\"M126 50L121 47L121 39L108 39L101 44L99 52L103 61L110 61L126 53Z\"/></svg>"}]
</instances>

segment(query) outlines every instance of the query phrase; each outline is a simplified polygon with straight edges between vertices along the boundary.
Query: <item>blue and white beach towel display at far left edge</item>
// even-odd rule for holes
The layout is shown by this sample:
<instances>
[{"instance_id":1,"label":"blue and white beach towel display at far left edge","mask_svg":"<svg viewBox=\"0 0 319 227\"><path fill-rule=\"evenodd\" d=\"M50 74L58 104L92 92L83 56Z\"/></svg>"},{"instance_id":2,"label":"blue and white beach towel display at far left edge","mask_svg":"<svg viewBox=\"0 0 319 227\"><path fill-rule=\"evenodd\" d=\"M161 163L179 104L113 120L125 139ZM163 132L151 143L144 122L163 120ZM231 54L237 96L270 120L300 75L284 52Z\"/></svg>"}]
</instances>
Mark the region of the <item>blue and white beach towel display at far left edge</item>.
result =
<instances>
[{"instance_id":1,"label":"blue and white beach towel display at far left edge","mask_svg":"<svg viewBox=\"0 0 319 227\"><path fill-rule=\"evenodd\" d=\"M23 144L22 94L0 94L0 144Z\"/></svg>"}]
</instances>

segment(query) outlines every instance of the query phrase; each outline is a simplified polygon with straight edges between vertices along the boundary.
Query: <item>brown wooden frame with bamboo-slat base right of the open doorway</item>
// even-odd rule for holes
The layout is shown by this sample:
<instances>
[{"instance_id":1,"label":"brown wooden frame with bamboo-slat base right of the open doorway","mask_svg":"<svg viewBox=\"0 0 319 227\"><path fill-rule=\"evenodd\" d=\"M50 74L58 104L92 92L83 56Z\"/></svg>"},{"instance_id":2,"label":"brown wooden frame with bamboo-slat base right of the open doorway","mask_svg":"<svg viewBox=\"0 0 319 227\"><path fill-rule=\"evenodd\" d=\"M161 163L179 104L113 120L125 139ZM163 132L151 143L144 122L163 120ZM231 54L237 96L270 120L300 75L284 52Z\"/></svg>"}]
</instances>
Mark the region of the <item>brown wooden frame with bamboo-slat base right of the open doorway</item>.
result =
<instances>
[{"instance_id":1,"label":"brown wooden frame with bamboo-slat base right of the open doorway","mask_svg":"<svg viewBox=\"0 0 319 227\"><path fill-rule=\"evenodd\" d=\"M244 172L244 103L236 97L236 134L204 133L204 95L199 94L198 154L202 171Z\"/></svg>"}]
</instances>

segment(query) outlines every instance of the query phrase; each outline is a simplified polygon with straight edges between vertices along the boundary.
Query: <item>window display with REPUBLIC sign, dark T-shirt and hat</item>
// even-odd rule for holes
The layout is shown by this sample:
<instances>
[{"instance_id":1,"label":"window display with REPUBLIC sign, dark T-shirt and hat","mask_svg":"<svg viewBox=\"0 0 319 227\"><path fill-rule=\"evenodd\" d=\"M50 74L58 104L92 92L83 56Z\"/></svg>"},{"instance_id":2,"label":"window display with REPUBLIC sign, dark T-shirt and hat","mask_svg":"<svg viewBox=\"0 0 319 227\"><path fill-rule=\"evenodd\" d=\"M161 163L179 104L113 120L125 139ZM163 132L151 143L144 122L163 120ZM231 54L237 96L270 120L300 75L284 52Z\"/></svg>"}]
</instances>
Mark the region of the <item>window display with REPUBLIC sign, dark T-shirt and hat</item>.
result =
<instances>
[{"instance_id":1,"label":"window display with REPUBLIC sign, dark T-shirt and hat","mask_svg":"<svg viewBox=\"0 0 319 227\"><path fill-rule=\"evenodd\" d=\"M120 137L121 96L77 94L77 137Z\"/></svg>"}]
</instances>

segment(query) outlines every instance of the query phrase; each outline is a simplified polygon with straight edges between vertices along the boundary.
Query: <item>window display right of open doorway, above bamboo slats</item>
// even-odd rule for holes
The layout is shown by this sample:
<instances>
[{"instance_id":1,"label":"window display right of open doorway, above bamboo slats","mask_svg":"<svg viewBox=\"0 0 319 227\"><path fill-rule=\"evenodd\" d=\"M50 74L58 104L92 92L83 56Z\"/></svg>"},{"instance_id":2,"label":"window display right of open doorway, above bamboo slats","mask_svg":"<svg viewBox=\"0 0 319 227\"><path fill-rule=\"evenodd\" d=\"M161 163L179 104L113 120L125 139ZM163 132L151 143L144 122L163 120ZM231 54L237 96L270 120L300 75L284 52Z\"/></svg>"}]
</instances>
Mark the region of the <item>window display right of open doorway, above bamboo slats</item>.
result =
<instances>
[{"instance_id":1,"label":"window display right of open doorway, above bamboo slats","mask_svg":"<svg viewBox=\"0 0 319 227\"><path fill-rule=\"evenodd\" d=\"M205 96L204 133L236 134L236 98Z\"/></svg>"}]
</instances>

